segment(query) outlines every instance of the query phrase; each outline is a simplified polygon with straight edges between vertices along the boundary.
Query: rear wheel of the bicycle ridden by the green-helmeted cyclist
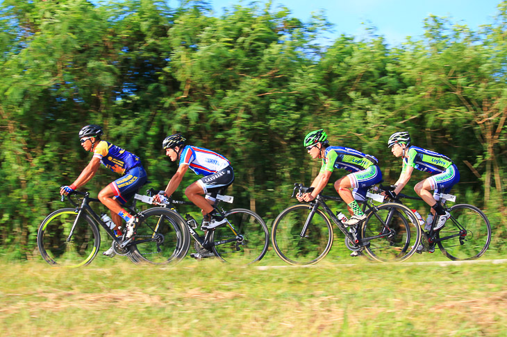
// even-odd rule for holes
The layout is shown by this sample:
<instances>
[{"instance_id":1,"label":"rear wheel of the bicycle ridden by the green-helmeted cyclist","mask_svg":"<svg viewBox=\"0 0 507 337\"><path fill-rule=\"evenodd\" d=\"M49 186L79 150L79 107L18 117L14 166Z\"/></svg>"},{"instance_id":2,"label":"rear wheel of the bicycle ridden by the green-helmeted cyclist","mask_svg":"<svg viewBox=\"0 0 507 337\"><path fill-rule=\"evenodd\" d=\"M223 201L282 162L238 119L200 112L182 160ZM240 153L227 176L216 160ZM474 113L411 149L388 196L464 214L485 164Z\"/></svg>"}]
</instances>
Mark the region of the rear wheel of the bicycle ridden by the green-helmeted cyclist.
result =
<instances>
[{"instance_id":1,"label":"rear wheel of the bicycle ridden by the green-helmeted cyclist","mask_svg":"<svg viewBox=\"0 0 507 337\"><path fill-rule=\"evenodd\" d=\"M392 214L390 218L388 215ZM383 223L395 231L394 236L372 239L365 250L369 257L380 262L405 261L413 256L421 241L421 227L413 212L396 202L388 202L368 209L367 218L361 226L361 237L376 236L383 232Z\"/></svg>"}]
</instances>

